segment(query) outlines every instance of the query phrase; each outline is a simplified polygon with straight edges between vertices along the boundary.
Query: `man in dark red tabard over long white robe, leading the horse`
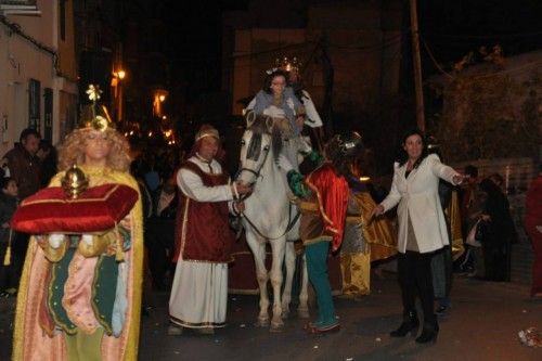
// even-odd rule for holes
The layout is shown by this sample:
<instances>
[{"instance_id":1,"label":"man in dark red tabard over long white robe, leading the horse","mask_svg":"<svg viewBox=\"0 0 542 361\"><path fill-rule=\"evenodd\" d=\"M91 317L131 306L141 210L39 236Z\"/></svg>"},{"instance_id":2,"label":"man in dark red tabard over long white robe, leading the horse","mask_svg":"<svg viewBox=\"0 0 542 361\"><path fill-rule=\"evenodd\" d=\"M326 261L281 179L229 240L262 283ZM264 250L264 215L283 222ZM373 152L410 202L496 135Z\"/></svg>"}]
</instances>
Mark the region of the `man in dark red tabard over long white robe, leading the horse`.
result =
<instances>
[{"instance_id":1,"label":"man in dark red tabard over long white robe, leading the horse","mask_svg":"<svg viewBox=\"0 0 542 361\"><path fill-rule=\"evenodd\" d=\"M177 268L169 298L171 325L168 334L182 327L214 333L225 326L228 262L231 261L233 232L230 209L242 211L234 198L249 193L249 185L230 182L217 159L223 151L217 129L204 125L195 137L190 158L177 172L180 189L176 224Z\"/></svg>"}]
</instances>

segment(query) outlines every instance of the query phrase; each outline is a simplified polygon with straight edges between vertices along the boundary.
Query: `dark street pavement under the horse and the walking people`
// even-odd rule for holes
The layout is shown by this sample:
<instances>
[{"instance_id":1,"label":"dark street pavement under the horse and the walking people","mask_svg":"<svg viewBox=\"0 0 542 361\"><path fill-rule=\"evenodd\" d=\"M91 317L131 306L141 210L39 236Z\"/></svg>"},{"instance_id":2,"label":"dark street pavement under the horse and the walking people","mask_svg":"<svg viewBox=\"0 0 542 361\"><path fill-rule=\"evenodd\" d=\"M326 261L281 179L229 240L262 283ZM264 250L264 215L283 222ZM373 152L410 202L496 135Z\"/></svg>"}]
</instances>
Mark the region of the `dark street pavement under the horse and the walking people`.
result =
<instances>
[{"instance_id":1,"label":"dark street pavement under the horse and the walking people","mask_svg":"<svg viewBox=\"0 0 542 361\"><path fill-rule=\"evenodd\" d=\"M452 309L439 317L436 344L417 345L411 335L390 338L401 322L395 273L373 274L372 294L359 300L336 298L341 330L308 335L306 320L293 315L281 333L254 326L257 296L230 295L228 326L215 335L185 331L167 335L167 293L147 293L142 317L140 360L542 360L542 348L522 345L520 330L542 330L542 301L521 283L493 283L455 275ZM0 360L11 353L13 299L0 300ZM314 309L311 310L314 314Z\"/></svg>"}]
</instances>

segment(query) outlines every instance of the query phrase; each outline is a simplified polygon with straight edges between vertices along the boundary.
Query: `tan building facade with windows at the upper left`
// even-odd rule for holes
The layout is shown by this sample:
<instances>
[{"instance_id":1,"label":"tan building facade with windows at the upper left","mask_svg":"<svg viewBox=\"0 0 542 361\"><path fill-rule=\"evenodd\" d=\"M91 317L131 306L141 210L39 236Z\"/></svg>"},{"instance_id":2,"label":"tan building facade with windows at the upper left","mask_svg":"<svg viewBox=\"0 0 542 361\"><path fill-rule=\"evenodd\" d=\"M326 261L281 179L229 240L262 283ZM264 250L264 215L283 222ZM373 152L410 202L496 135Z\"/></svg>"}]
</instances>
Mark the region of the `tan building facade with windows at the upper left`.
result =
<instances>
[{"instance_id":1,"label":"tan building facade with windows at the upper left","mask_svg":"<svg viewBox=\"0 0 542 361\"><path fill-rule=\"evenodd\" d=\"M0 154L25 128L55 144L75 126L73 2L0 1Z\"/></svg>"}]
</instances>

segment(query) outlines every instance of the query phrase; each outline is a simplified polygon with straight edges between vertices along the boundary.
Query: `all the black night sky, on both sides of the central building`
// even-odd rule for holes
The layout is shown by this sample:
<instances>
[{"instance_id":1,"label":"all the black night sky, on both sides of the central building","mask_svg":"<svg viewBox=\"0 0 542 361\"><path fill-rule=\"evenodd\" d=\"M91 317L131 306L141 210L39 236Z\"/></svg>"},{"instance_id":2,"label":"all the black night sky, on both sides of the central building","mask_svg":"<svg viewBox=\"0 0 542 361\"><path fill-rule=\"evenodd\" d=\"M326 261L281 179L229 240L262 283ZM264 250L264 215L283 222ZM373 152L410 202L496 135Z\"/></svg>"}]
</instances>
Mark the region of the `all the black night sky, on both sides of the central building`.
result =
<instances>
[{"instance_id":1,"label":"all the black night sky, on both sides of the central building","mask_svg":"<svg viewBox=\"0 0 542 361\"><path fill-rule=\"evenodd\" d=\"M155 3L162 4L157 15L175 35L168 40L173 75L182 74L195 92L220 89L221 15L225 11L246 10L249 1ZM409 22L406 0L404 4ZM481 46L491 49L499 43L505 56L542 49L541 16L541 0L418 0L422 37L435 59L444 65ZM424 62L430 62L425 49L423 52ZM431 64L424 64L424 76L436 72Z\"/></svg>"}]
</instances>

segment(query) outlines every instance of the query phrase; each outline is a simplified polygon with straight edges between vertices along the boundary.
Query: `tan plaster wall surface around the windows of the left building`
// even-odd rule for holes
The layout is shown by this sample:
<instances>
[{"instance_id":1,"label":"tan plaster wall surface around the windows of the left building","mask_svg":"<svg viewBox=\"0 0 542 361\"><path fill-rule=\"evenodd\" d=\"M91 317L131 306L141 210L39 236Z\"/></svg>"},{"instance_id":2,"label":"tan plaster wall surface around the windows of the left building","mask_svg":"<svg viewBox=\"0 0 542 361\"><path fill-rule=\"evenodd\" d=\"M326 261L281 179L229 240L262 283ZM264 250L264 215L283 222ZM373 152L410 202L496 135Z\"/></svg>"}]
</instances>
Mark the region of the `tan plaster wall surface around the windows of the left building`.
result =
<instances>
[{"instance_id":1,"label":"tan plaster wall surface around the windows of the left building","mask_svg":"<svg viewBox=\"0 0 542 361\"><path fill-rule=\"evenodd\" d=\"M38 0L38 9L41 16L8 15L7 18L18 24L23 33L55 50L59 43L57 1ZM42 134L43 89L53 89L53 143L56 143L60 138L60 92L77 94L77 86L74 81L56 76L50 53L0 24L0 156L13 147L21 131L28 127L30 79L40 81L39 130Z\"/></svg>"}]
</instances>

